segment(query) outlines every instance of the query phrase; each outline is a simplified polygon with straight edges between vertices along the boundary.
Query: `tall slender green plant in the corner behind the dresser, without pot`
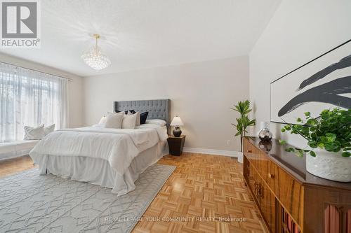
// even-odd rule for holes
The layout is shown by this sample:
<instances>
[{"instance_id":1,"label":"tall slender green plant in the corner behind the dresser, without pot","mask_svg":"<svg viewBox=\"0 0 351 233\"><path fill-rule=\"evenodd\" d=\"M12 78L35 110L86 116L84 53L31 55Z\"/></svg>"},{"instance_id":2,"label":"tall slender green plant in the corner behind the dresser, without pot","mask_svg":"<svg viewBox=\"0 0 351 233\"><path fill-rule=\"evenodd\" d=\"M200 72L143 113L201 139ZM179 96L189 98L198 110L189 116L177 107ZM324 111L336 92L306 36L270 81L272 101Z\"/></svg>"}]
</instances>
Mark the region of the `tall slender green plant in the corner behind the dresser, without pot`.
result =
<instances>
[{"instance_id":1,"label":"tall slender green plant in the corner behind the dresser, without pot","mask_svg":"<svg viewBox=\"0 0 351 233\"><path fill-rule=\"evenodd\" d=\"M235 134L235 136L240 135L240 151L242 152L244 136L247 133L246 128L255 125L256 120L250 120L249 118L249 113L252 111L249 100L239 101L238 104L234 105L234 108L231 109L240 114L240 117L237 118L237 124L232 125L237 128L237 134Z\"/></svg>"}]
</instances>

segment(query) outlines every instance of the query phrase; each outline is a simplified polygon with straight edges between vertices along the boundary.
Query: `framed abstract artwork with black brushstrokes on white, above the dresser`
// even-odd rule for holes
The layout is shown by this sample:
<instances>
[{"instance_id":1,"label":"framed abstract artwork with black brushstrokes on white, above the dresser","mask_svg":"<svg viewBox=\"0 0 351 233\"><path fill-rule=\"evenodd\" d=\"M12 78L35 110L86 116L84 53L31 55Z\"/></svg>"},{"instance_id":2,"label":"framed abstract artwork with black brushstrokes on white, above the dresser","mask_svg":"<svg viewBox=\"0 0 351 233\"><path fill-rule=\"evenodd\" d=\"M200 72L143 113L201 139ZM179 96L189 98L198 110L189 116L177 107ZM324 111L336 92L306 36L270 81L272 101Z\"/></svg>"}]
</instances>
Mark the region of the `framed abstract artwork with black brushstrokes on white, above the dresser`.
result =
<instances>
[{"instance_id":1,"label":"framed abstract artwork with black brushstrokes on white, above the dresser","mask_svg":"<svg viewBox=\"0 0 351 233\"><path fill-rule=\"evenodd\" d=\"M270 83L270 121L293 123L310 112L351 108L351 40Z\"/></svg>"}]
</instances>

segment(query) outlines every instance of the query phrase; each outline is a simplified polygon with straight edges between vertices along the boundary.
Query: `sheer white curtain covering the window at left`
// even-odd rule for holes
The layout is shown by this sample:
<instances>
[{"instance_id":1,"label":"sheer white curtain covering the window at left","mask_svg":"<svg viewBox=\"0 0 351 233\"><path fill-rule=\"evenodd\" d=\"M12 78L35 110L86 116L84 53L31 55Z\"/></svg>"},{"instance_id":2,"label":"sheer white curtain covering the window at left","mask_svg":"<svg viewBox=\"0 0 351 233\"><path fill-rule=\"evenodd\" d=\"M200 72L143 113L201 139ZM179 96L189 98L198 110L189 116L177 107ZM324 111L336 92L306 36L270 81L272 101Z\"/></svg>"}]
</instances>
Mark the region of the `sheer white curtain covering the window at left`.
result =
<instances>
[{"instance_id":1,"label":"sheer white curtain covering the window at left","mask_svg":"<svg viewBox=\"0 0 351 233\"><path fill-rule=\"evenodd\" d=\"M0 143L23 139L23 126L67 127L67 79L0 62Z\"/></svg>"}]
</instances>

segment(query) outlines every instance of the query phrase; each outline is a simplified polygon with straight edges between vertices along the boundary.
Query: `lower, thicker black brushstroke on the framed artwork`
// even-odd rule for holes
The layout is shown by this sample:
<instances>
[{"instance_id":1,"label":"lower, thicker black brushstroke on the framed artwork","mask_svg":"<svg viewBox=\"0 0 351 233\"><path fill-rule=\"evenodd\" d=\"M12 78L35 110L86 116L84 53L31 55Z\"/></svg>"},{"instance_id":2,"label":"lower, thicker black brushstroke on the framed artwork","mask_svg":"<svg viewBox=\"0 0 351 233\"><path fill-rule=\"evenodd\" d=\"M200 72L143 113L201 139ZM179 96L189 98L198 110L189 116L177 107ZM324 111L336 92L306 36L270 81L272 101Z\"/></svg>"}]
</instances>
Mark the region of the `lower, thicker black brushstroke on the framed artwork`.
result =
<instances>
[{"instance_id":1,"label":"lower, thicker black brushstroke on the framed artwork","mask_svg":"<svg viewBox=\"0 0 351 233\"><path fill-rule=\"evenodd\" d=\"M286 113L298 108L298 106L302 106L308 102L333 104L335 106L350 109L351 98L338 95L346 93L351 93L351 76L332 80L329 83L312 87L311 89L298 94L279 110L278 116L282 117L282 115L285 115Z\"/></svg>"}]
</instances>

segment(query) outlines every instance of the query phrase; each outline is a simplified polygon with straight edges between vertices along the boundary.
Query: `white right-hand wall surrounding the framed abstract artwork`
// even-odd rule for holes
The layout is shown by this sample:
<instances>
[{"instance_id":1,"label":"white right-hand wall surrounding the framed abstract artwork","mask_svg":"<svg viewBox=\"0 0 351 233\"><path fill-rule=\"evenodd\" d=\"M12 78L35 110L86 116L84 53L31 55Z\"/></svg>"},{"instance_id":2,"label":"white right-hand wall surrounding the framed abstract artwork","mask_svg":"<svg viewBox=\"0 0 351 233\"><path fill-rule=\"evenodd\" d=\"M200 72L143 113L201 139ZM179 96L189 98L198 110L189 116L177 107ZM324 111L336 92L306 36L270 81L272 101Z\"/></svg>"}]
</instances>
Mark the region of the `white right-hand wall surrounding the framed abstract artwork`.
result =
<instances>
[{"instance_id":1,"label":"white right-hand wall surrounding the framed abstract artwork","mask_svg":"<svg viewBox=\"0 0 351 233\"><path fill-rule=\"evenodd\" d=\"M284 0L251 51L250 99L256 120L270 120L270 82L351 38L350 0ZM286 87L289 88L289 87ZM259 125L259 123L258 123ZM271 124L276 138L303 141Z\"/></svg>"}]
</instances>

